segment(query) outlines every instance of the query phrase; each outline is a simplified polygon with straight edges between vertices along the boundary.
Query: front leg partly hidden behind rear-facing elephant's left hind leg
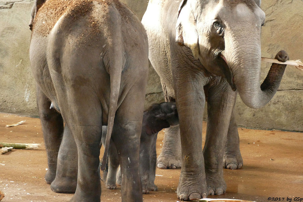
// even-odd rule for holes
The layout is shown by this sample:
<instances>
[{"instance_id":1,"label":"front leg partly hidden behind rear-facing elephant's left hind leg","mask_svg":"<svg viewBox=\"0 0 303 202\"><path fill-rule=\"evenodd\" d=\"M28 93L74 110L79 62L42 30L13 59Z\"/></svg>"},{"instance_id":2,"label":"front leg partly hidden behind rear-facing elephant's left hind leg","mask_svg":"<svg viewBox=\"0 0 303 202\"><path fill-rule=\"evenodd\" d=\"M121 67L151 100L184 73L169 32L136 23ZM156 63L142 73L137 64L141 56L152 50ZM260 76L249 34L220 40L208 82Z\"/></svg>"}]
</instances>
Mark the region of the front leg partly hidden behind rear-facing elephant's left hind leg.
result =
<instances>
[{"instance_id":1,"label":"front leg partly hidden behind rear-facing elephant's left hind leg","mask_svg":"<svg viewBox=\"0 0 303 202\"><path fill-rule=\"evenodd\" d=\"M75 193L78 176L77 146L68 126L65 125L58 153L56 178L51 189L57 193Z\"/></svg>"}]
</instances>

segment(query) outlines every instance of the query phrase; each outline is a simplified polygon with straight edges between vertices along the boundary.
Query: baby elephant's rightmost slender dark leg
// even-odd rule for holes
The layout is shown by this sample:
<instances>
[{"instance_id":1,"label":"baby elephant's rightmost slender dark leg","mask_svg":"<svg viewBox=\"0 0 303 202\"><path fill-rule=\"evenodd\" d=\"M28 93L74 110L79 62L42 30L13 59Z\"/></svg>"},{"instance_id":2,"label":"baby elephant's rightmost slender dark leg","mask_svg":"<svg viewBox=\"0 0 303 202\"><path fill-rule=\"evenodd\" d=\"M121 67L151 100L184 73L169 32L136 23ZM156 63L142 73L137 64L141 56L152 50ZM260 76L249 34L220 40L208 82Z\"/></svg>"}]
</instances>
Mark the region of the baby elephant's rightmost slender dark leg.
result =
<instances>
[{"instance_id":1,"label":"baby elephant's rightmost slender dark leg","mask_svg":"<svg viewBox=\"0 0 303 202\"><path fill-rule=\"evenodd\" d=\"M156 161L157 161L157 153L156 153L156 141L157 135L153 134L151 137L151 152L149 157L149 181L148 181L148 189L150 191L157 191L158 187L155 185L155 177L156 177Z\"/></svg>"}]
</instances>

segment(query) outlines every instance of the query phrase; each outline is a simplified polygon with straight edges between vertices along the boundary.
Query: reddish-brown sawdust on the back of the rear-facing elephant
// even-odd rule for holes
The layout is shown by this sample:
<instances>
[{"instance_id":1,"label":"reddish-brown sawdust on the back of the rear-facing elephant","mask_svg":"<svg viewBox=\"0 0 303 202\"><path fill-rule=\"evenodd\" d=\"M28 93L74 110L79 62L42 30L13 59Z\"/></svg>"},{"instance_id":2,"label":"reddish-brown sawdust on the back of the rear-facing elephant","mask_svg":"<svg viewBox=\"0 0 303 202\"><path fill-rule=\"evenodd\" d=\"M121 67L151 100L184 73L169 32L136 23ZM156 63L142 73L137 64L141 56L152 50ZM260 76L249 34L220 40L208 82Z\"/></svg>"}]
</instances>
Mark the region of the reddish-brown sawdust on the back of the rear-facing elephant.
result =
<instances>
[{"instance_id":1,"label":"reddish-brown sawdust on the back of the rear-facing elephant","mask_svg":"<svg viewBox=\"0 0 303 202\"><path fill-rule=\"evenodd\" d=\"M108 5L113 3L116 7L121 6L117 0L47 0L35 16L33 33L47 36L62 15L66 15L74 21L81 16L88 16L88 27L91 27L92 31L98 31L98 21L89 16L94 8L93 2L103 5L104 11Z\"/></svg>"}]
</instances>

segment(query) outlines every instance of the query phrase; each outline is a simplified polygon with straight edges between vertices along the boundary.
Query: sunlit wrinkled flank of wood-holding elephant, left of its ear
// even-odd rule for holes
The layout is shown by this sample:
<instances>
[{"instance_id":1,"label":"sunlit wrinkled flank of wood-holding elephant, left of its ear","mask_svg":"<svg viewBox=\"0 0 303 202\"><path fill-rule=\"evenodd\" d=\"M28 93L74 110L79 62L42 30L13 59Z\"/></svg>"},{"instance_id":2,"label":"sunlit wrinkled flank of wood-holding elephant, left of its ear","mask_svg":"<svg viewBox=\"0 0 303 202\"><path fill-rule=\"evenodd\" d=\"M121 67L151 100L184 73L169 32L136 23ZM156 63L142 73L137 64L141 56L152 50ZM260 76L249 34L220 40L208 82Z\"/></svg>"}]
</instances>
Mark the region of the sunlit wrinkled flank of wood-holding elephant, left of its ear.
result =
<instances>
[{"instance_id":1,"label":"sunlit wrinkled flank of wood-holding elephant, left of its ear","mask_svg":"<svg viewBox=\"0 0 303 202\"><path fill-rule=\"evenodd\" d=\"M175 17L180 1L153 0L148 3L142 24L148 36L151 65L161 78L162 88L169 97L175 98L171 72L171 41L175 38Z\"/></svg>"}]
</instances>

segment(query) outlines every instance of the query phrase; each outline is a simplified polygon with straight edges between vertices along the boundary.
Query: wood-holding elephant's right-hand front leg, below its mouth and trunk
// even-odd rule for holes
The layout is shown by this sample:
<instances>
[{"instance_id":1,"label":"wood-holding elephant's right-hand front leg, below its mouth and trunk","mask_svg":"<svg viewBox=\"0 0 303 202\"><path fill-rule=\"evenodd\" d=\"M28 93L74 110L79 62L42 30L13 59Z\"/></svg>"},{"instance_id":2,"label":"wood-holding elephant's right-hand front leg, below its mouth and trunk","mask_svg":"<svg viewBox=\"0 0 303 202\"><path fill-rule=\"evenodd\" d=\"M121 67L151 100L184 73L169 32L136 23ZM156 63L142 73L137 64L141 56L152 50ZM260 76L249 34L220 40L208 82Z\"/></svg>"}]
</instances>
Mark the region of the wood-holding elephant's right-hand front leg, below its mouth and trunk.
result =
<instances>
[{"instance_id":1,"label":"wood-holding elephant's right-hand front leg, below its mouth and trunk","mask_svg":"<svg viewBox=\"0 0 303 202\"><path fill-rule=\"evenodd\" d=\"M208 84L208 120L203 150L208 194L225 193L223 178L223 151L236 93L224 78L215 78Z\"/></svg>"}]
</instances>

